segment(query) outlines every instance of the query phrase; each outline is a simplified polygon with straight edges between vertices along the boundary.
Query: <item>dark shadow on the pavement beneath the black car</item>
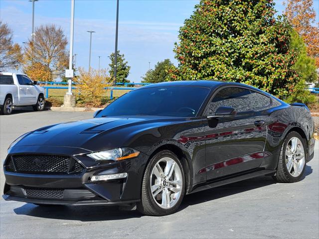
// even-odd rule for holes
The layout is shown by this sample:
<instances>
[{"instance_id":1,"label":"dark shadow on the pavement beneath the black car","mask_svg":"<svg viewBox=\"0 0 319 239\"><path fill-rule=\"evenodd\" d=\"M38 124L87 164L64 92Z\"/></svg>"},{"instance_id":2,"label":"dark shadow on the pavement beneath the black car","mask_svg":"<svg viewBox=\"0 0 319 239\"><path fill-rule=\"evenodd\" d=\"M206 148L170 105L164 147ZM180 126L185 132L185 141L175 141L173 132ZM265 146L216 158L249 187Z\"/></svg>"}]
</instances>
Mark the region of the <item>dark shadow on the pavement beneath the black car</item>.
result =
<instances>
[{"instance_id":1,"label":"dark shadow on the pavement beneath the black car","mask_svg":"<svg viewBox=\"0 0 319 239\"><path fill-rule=\"evenodd\" d=\"M304 177L307 177L312 172L311 166L307 165ZM272 177L263 176L186 195L178 211L184 210L191 205L240 194L275 183ZM135 210L120 211L116 206L36 206L26 203L19 208L15 208L13 211L17 215L82 222L123 220L143 216Z\"/></svg>"}]
</instances>

